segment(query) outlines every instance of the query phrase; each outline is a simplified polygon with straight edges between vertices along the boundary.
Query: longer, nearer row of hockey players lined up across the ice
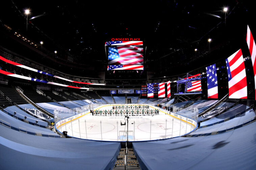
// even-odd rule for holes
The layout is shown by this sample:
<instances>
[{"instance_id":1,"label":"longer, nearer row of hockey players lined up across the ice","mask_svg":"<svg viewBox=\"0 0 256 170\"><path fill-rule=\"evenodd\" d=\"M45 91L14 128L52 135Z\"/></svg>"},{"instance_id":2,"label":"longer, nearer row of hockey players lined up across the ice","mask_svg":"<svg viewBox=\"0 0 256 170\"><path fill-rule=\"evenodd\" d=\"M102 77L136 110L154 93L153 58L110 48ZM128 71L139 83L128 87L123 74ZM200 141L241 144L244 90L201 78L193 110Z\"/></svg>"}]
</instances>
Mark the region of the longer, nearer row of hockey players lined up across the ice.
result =
<instances>
[{"instance_id":1,"label":"longer, nearer row of hockey players lined up across the ice","mask_svg":"<svg viewBox=\"0 0 256 170\"><path fill-rule=\"evenodd\" d=\"M159 115L159 110L158 109L155 109L155 110L126 110L126 111L123 111L123 110L116 110L116 111L112 111L112 110L105 110L105 111L102 111L102 110L95 110L92 112L93 115L96 115L96 116L145 116L145 115Z\"/></svg>"}]
</instances>

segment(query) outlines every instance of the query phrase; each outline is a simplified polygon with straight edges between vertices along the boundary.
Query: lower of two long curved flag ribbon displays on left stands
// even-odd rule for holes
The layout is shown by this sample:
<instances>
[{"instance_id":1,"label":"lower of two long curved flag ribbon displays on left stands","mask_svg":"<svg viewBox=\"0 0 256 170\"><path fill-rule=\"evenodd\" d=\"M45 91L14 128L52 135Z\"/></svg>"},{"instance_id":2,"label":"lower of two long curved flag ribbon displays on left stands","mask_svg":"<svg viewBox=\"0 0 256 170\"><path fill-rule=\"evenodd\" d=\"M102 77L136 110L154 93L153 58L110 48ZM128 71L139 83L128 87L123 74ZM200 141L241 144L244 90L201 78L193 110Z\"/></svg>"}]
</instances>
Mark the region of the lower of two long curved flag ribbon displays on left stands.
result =
<instances>
[{"instance_id":1,"label":"lower of two long curved flag ribbon displays on left stands","mask_svg":"<svg viewBox=\"0 0 256 170\"><path fill-rule=\"evenodd\" d=\"M31 78L31 77L21 76L21 75L14 74L14 73L9 73L9 72L3 71L3 70L0 70L0 73L4 74L6 76L16 77L16 78L25 79L25 80L36 81L36 82L40 82L40 83L53 84L53 85L62 86L62 87L69 87L69 88L76 88L76 89L89 89L89 88L85 88L85 87L69 86L69 85L65 85L65 84L59 84L59 83L39 80L39 79Z\"/></svg>"}]
</instances>

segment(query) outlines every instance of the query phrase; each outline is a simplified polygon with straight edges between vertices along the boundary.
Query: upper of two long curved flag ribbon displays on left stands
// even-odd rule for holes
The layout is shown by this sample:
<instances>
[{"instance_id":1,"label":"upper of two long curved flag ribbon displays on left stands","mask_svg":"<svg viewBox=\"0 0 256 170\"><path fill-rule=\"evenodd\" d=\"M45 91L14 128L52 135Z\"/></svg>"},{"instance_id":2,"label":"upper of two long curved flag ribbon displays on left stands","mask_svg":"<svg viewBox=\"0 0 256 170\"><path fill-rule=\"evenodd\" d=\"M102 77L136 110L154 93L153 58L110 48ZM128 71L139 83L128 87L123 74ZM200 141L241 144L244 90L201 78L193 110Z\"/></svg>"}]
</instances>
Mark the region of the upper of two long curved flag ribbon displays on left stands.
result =
<instances>
[{"instance_id":1,"label":"upper of two long curved flag ribbon displays on left stands","mask_svg":"<svg viewBox=\"0 0 256 170\"><path fill-rule=\"evenodd\" d=\"M62 77L59 77L59 76L54 76L52 74L49 74L49 73L46 73L46 72L43 72L43 71L40 71L40 70L36 70L36 69L30 68L30 67L24 66L22 64L19 64L17 62L8 60L8 59L6 59L6 58L4 58L2 56L0 56L0 60L2 60L4 62L7 62L7 63L9 63L11 65L14 65L14 66L18 66L18 67L21 67L21 68L24 68L24 69L27 69L27 70L31 70L33 72L41 73L41 74L44 74L44 75L47 75L47 76L55 77L55 78L58 78L58 79L61 79L61 80L65 80L65 81L69 81L69 82L72 82L72 83L88 84L88 85L105 85L105 84L98 84L98 83L84 83L84 82L79 82L79 81L73 81L73 80L65 79L65 78L62 78Z\"/></svg>"}]
</instances>

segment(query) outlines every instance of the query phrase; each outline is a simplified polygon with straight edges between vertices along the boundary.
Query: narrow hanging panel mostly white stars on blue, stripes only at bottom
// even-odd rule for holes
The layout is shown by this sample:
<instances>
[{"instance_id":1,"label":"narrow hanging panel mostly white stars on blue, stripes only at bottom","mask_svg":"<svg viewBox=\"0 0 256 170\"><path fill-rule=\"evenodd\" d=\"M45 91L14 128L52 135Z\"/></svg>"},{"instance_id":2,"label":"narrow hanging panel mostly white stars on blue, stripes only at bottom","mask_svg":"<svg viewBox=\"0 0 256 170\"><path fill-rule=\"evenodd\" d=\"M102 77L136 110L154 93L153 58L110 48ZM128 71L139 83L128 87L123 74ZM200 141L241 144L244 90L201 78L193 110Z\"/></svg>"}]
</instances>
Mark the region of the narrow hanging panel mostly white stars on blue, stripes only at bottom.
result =
<instances>
[{"instance_id":1,"label":"narrow hanging panel mostly white stars on blue, stripes only at bottom","mask_svg":"<svg viewBox=\"0 0 256 170\"><path fill-rule=\"evenodd\" d=\"M208 98L218 98L218 82L216 65L206 67Z\"/></svg>"}]
</instances>

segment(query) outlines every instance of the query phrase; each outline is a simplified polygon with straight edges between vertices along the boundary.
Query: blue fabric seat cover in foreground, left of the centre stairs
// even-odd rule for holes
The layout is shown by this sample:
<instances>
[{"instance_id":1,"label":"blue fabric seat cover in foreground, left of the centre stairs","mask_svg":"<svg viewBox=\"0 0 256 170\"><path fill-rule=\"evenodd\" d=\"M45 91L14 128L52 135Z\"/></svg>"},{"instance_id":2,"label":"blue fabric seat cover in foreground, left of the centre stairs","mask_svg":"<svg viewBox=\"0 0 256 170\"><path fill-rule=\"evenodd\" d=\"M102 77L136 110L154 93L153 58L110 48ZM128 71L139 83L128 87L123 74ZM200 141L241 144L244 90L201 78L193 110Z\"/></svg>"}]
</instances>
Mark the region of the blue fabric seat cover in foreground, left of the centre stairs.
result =
<instances>
[{"instance_id":1,"label":"blue fabric seat cover in foreground, left of the centre stairs","mask_svg":"<svg viewBox=\"0 0 256 170\"><path fill-rule=\"evenodd\" d=\"M1 124L0 141L1 169L113 169L121 148L114 142L29 135Z\"/></svg>"}]
</instances>

